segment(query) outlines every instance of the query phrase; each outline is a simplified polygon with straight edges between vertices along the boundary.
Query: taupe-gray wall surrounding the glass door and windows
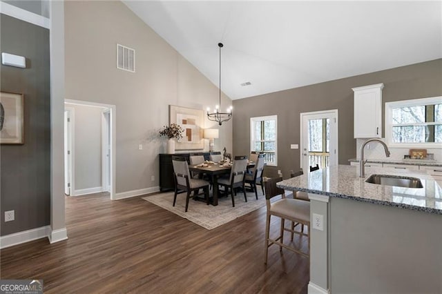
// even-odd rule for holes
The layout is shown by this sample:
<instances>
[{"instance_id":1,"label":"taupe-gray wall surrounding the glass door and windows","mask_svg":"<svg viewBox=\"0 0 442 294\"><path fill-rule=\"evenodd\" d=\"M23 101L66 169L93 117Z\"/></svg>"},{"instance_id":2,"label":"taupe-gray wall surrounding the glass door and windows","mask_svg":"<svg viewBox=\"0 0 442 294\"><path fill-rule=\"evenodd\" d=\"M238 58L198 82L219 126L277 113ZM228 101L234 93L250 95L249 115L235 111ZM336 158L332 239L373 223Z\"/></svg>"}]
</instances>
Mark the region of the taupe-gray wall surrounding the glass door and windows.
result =
<instances>
[{"instance_id":1,"label":"taupe-gray wall surrounding the glass door and windows","mask_svg":"<svg viewBox=\"0 0 442 294\"><path fill-rule=\"evenodd\" d=\"M338 66L338 65L336 65ZM278 115L278 168L284 177L300 168L300 112L338 109L339 163L356 157L353 90L383 83L383 103L442 95L442 59L233 101L233 153L250 153L250 117ZM384 115L384 111L383 111ZM384 121L384 119L383 119Z\"/></svg>"}]
</instances>

